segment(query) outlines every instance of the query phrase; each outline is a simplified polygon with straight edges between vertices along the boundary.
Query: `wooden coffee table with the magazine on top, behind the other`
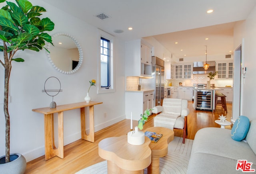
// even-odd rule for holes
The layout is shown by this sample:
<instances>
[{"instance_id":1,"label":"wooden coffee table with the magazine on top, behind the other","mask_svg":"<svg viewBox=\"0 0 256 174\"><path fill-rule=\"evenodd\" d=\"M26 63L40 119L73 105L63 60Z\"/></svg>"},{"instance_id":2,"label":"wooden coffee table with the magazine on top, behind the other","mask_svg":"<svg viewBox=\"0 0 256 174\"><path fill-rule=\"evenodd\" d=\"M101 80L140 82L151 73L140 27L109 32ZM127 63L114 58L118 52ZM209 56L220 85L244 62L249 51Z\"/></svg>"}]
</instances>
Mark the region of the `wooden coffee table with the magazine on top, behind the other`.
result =
<instances>
[{"instance_id":1,"label":"wooden coffee table with the magazine on top, behind the other","mask_svg":"<svg viewBox=\"0 0 256 174\"><path fill-rule=\"evenodd\" d=\"M168 144L174 139L174 131L165 127L149 127L144 132L150 131L163 136L156 142L151 142L151 164L148 166L148 174L159 174L159 158L168 153Z\"/></svg>"}]
</instances>

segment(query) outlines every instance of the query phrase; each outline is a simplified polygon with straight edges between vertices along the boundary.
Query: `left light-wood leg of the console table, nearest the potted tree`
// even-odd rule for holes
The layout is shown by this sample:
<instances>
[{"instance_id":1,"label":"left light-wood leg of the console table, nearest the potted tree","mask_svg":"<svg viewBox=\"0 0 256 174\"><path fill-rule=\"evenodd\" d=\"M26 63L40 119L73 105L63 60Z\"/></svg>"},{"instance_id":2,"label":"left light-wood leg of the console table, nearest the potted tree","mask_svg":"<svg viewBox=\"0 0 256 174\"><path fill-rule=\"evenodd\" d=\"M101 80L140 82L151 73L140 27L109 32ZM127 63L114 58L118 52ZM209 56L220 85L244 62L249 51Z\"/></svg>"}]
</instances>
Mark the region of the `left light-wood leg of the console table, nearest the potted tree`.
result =
<instances>
[{"instance_id":1,"label":"left light-wood leg of the console table, nearest the potted tree","mask_svg":"<svg viewBox=\"0 0 256 174\"><path fill-rule=\"evenodd\" d=\"M44 115L44 140L45 160L54 156L64 158L63 112L58 112L58 148L54 144L53 113Z\"/></svg>"}]
</instances>

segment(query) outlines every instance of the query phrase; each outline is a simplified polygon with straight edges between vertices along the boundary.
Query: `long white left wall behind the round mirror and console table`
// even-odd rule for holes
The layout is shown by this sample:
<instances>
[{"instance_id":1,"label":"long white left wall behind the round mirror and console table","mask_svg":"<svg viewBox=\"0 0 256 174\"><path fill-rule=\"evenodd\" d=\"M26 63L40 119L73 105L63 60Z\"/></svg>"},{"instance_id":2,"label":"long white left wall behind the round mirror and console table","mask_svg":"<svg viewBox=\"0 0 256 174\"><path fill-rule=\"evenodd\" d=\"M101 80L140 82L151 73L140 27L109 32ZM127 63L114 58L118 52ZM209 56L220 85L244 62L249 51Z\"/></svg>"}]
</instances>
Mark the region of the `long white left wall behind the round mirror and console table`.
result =
<instances>
[{"instance_id":1,"label":"long white left wall behind the round mirror and console table","mask_svg":"<svg viewBox=\"0 0 256 174\"><path fill-rule=\"evenodd\" d=\"M84 61L78 72L62 74L47 60L46 51L20 51L16 57L24 63L12 63L10 77L10 152L23 154L27 161L44 155L44 115L33 112L34 108L48 107L52 98L41 92L45 80L57 77L63 92L54 97L57 105L83 102L90 86L89 80L98 78L99 32L94 26L82 22L49 4L30 0L33 5L44 7L48 17L55 23L50 34L65 32L73 35L80 43ZM125 119L125 44L115 39L115 85L116 92L97 94L96 87L90 89L93 101L103 104L94 107L95 131ZM1 55L2 56L2 55ZM2 57L0 57L2 60ZM5 120L3 111L4 68L0 66L0 156L5 154ZM98 82L98 81L97 81ZM88 110L87 110L88 111ZM88 124L86 124L88 127ZM128 130L129 131L129 130ZM57 131L56 131L57 132ZM80 109L64 112L64 145L81 138Z\"/></svg>"}]
</instances>

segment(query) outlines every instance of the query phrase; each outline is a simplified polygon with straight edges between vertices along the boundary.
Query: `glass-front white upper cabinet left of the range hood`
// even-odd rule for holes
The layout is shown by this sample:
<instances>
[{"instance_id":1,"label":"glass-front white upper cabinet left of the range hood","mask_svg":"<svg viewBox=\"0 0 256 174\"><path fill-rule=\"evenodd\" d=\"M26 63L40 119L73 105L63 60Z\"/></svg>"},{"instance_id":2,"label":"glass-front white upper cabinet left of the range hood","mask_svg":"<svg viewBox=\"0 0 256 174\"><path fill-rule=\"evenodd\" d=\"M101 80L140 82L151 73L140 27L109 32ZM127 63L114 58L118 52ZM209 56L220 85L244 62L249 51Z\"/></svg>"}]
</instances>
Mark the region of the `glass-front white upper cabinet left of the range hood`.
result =
<instances>
[{"instance_id":1,"label":"glass-front white upper cabinet left of the range hood","mask_svg":"<svg viewBox=\"0 0 256 174\"><path fill-rule=\"evenodd\" d=\"M175 65L175 78L176 79L192 79L193 78L192 64L176 64Z\"/></svg>"}]
</instances>

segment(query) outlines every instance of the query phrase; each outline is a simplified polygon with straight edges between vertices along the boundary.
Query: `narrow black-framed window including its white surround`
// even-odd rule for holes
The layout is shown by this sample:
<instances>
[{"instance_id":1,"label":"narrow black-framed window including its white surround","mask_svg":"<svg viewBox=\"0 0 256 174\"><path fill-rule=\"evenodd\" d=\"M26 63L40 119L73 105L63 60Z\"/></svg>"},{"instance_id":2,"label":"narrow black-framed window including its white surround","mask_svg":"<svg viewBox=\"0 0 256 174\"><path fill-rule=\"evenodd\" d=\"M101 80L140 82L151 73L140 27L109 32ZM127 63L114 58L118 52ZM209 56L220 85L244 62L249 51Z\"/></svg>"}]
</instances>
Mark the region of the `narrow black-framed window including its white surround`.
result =
<instances>
[{"instance_id":1,"label":"narrow black-framed window including its white surround","mask_svg":"<svg viewBox=\"0 0 256 174\"><path fill-rule=\"evenodd\" d=\"M99 41L98 94L114 92L114 37L100 30Z\"/></svg>"}]
</instances>

